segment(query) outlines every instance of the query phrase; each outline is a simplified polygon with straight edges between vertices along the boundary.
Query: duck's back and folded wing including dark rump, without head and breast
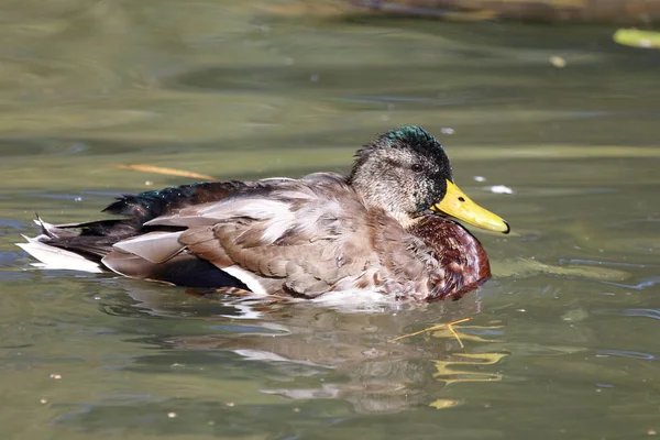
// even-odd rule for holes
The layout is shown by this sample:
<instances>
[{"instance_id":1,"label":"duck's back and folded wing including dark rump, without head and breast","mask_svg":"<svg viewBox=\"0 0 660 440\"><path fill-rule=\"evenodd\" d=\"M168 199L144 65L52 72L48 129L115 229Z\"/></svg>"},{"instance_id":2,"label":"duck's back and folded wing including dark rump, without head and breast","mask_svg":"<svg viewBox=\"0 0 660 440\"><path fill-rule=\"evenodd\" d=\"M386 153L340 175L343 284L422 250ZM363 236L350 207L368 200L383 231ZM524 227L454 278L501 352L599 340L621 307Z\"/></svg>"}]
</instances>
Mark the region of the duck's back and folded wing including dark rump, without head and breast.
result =
<instances>
[{"instance_id":1,"label":"duck's back and folded wing including dark rump, without head and breast","mask_svg":"<svg viewBox=\"0 0 660 440\"><path fill-rule=\"evenodd\" d=\"M46 226L40 241L130 277L306 297L378 264L366 209L336 174L186 185L105 211L123 218Z\"/></svg>"}]
</instances>

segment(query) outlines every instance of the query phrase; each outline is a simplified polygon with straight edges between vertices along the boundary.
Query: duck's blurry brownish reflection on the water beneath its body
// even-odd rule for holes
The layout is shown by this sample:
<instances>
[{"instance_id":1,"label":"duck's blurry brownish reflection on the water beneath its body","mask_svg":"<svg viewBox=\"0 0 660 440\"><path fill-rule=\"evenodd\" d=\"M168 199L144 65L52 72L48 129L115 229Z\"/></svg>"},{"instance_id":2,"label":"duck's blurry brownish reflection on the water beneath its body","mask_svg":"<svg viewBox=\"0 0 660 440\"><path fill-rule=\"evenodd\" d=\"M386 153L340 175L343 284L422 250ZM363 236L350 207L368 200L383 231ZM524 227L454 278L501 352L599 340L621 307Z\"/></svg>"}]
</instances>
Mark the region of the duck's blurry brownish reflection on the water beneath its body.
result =
<instances>
[{"instance_id":1,"label":"duck's blurry brownish reflection on the water beneath its body","mask_svg":"<svg viewBox=\"0 0 660 440\"><path fill-rule=\"evenodd\" d=\"M490 341L472 342L474 336L464 333L463 326L454 329L463 341L471 341L465 350L460 349L453 334L438 332L388 342L439 321L479 317L479 295L459 302L396 302L380 311L355 312L309 302L257 301L245 306L243 298L224 295L198 300L176 289L164 292L153 284L128 279L103 279L102 284L103 292L119 294L105 295L99 301L106 312L158 317L143 320L148 326L146 332L144 328L122 328L128 331L122 340L141 348L148 344L162 349L146 350L133 359L133 365L152 374L154 369L185 360L183 371L161 376L161 381L172 381L163 386L175 382L180 385L182 381L190 381L193 374L196 381L209 381L201 392L202 396L209 393L209 398L227 395L227 389L216 384L228 377L258 383L261 393L284 397L283 405L329 399L349 403L351 411L360 414L398 413L461 395L460 388L448 394L448 382L482 381L494 374L486 366L486 358L495 355L485 345ZM133 299L133 305L127 302L124 294ZM475 334L492 337L493 332ZM222 369L217 369L219 359ZM442 376L437 376L439 364L444 366ZM237 372L241 372L239 376ZM231 398L237 399L237 406L254 399L251 387L242 388L245 394ZM204 398L199 389L193 389L196 399Z\"/></svg>"}]
</instances>

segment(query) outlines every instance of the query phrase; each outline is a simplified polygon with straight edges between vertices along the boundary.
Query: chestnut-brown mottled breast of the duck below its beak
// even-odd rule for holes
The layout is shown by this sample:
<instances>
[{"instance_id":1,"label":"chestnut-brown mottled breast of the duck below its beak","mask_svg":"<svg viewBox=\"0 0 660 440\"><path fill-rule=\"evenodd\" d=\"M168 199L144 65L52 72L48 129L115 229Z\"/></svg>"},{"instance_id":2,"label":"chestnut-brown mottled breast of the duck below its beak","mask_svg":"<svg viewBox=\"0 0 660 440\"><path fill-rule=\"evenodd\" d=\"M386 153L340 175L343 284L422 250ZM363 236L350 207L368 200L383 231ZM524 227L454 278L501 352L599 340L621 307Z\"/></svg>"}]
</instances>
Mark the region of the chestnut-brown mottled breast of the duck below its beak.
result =
<instances>
[{"instance_id":1,"label":"chestnut-brown mottled breast of the duck below its beak","mask_svg":"<svg viewBox=\"0 0 660 440\"><path fill-rule=\"evenodd\" d=\"M428 301L459 299L491 277L486 251L479 240L459 223L440 216L428 215L408 232L431 248L443 273L430 276Z\"/></svg>"}]
</instances>

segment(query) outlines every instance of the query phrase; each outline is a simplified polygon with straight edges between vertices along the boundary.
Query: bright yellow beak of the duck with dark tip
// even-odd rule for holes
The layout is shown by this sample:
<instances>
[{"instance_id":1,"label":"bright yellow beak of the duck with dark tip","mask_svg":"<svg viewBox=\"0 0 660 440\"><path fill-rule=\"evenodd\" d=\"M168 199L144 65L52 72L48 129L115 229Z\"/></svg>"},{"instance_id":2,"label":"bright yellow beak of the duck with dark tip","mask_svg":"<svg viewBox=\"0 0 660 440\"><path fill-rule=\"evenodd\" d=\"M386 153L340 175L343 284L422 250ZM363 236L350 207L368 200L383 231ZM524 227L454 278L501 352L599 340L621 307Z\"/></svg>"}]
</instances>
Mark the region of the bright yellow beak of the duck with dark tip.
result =
<instances>
[{"instance_id":1,"label":"bright yellow beak of the duck with dark tip","mask_svg":"<svg viewBox=\"0 0 660 440\"><path fill-rule=\"evenodd\" d=\"M512 230L506 221L470 200L458 186L449 180L447 180L444 198L433 205L431 210L455 217L488 231L509 233Z\"/></svg>"}]
</instances>

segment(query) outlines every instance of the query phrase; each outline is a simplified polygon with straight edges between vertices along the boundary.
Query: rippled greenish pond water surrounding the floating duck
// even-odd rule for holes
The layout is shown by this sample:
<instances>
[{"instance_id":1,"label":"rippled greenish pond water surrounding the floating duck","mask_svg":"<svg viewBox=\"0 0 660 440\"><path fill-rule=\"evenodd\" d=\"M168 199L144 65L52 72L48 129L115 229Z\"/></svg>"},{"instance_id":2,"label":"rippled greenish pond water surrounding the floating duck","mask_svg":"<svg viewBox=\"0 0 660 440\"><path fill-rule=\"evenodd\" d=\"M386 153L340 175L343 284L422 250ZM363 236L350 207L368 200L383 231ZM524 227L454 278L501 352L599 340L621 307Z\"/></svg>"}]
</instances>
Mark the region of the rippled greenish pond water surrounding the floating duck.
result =
<instances>
[{"instance_id":1,"label":"rippled greenish pond water surrounding the floating duck","mask_svg":"<svg viewBox=\"0 0 660 440\"><path fill-rule=\"evenodd\" d=\"M615 45L608 28L283 13L295 7L1 7L2 438L660 431L658 53ZM121 193L190 182L117 164L345 170L402 123L437 133L460 186L514 228L476 232L495 277L458 302L255 316L183 288L41 272L12 244L34 234L34 211L95 219ZM461 342L447 328L388 342L465 318Z\"/></svg>"}]
</instances>

